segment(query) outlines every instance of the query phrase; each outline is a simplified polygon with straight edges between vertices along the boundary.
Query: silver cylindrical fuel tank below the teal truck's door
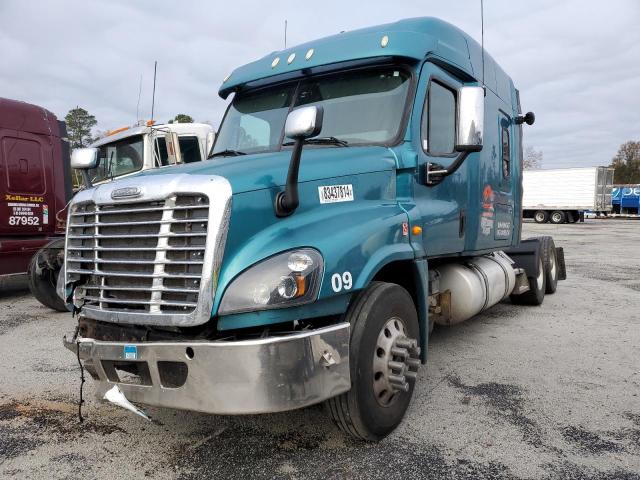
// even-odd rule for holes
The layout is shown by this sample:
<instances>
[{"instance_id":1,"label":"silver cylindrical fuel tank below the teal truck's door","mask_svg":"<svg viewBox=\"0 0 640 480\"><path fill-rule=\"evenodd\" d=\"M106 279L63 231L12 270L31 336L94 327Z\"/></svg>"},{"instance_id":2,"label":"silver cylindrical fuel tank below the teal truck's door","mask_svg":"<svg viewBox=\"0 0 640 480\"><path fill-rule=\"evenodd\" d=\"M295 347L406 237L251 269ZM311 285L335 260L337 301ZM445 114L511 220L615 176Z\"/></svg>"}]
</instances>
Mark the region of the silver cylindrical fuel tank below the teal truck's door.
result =
<instances>
[{"instance_id":1,"label":"silver cylindrical fuel tank below the teal truck's door","mask_svg":"<svg viewBox=\"0 0 640 480\"><path fill-rule=\"evenodd\" d=\"M436 316L436 323L464 322L508 297L516 282L512 263L505 253L494 252L439 266L439 290L449 292L450 309L448 315Z\"/></svg>"}]
</instances>

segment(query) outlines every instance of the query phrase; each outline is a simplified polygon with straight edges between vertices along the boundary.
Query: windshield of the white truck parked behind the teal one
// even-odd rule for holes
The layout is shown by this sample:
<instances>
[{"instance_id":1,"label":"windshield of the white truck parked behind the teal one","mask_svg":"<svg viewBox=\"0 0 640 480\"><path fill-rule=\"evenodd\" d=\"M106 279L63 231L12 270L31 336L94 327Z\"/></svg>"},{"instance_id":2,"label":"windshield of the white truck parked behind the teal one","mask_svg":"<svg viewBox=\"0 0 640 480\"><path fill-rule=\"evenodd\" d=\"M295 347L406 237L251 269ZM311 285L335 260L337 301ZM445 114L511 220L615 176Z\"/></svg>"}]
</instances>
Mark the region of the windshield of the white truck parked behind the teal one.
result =
<instances>
[{"instance_id":1,"label":"windshield of the white truck parked behind the teal one","mask_svg":"<svg viewBox=\"0 0 640 480\"><path fill-rule=\"evenodd\" d=\"M142 135L125 138L98 147L98 167L89 170L93 182L101 182L142 169L144 142Z\"/></svg>"}]
</instances>

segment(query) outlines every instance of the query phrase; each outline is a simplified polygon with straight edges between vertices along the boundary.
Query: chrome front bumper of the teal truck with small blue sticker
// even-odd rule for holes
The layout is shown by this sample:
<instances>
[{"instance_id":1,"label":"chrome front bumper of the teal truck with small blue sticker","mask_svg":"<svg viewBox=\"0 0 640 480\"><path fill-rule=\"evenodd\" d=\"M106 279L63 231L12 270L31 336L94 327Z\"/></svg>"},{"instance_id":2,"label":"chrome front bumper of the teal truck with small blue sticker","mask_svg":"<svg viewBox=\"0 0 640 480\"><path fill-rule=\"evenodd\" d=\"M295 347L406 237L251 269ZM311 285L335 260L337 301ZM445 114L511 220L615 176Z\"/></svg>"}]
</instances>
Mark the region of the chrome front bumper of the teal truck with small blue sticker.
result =
<instances>
[{"instance_id":1,"label":"chrome front bumper of the teal truck with small blue sticker","mask_svg":"<svg viewBox=\"0 0 640 480\"><path fill-rule=\"evenodd\" d=\"M132 402L250 414L305 407L351 388L348 323L258 340L125 343L71 335L63 342L74 354L79 348L98 398L117 384ZM138 383L126 383L131 377L114 365L134 365Z\"/></svg>"}]
</instances>

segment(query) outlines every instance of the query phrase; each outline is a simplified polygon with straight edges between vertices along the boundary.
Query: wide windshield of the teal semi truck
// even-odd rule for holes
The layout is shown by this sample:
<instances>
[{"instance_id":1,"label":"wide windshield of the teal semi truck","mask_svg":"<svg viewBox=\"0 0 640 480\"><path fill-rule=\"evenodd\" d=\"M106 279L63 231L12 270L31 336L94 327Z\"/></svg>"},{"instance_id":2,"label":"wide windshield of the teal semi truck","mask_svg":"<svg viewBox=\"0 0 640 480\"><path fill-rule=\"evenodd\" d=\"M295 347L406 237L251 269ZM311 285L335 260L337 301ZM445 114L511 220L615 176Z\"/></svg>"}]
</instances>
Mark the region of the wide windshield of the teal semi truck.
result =
<instances>
[{"instance_id":1,"label":"wide windshield of the teal semi truck","mask_svg":"<svg viewBox=\"0 0 640 480\"><path fill-rule=\"evenodd\" d=\"M388 144L400 129L409 79L404 70L388 67L241 92L220 126L213 155L278 150L287 114L306 105L324 108L318 138L334 137L348 145Z\"/></svg>"}]
</instances>

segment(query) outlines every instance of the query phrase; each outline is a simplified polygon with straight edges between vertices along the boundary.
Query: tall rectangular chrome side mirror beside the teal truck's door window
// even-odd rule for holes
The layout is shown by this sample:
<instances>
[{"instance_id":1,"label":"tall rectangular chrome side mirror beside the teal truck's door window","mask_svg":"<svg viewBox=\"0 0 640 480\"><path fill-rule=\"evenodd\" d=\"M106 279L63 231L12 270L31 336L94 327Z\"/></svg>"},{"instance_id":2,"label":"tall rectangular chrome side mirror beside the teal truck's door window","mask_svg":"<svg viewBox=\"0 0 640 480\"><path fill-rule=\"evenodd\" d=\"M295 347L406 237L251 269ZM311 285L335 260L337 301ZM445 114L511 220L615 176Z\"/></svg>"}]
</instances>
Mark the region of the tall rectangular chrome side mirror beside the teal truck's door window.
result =
<instances>
[{"instance_id":1,"label":"tall rectangular chrome side mirror beside the teal truck's door window","mask_svg":"<svg viewBox=\"0 0 640 480\"><path fill-rule=\"evenodd\" d=\"M484 133L484 89L461 87L458 90L458 125L456 150L479 152Z\"/></svg>"}]
</instances>

